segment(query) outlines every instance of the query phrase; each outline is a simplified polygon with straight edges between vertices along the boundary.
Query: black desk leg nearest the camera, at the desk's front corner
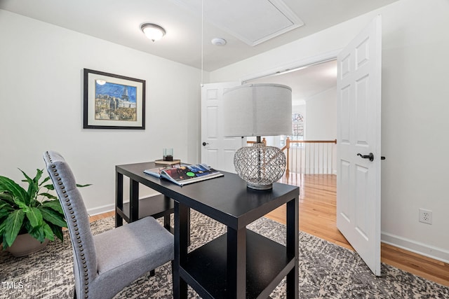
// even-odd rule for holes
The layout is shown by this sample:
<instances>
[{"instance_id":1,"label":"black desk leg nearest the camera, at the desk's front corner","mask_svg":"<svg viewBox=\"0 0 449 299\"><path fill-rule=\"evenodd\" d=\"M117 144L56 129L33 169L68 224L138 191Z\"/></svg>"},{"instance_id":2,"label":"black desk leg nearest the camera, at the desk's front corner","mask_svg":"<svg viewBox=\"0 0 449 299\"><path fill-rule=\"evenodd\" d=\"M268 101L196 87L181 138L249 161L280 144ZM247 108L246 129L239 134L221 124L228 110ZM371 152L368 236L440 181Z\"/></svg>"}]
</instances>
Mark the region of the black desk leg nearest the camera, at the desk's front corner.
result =
<instances>
[{"instance_id":1,"label":"black desk leg nearest the camera, at the desk's front corner","mask_svg":"<svg viewBox=\"0 0 449 299\"><path fill-rule=\"evenodd\" d=\"M246 228L227 228L227 298L246 297Z\"/></svg>"}]
</instances>

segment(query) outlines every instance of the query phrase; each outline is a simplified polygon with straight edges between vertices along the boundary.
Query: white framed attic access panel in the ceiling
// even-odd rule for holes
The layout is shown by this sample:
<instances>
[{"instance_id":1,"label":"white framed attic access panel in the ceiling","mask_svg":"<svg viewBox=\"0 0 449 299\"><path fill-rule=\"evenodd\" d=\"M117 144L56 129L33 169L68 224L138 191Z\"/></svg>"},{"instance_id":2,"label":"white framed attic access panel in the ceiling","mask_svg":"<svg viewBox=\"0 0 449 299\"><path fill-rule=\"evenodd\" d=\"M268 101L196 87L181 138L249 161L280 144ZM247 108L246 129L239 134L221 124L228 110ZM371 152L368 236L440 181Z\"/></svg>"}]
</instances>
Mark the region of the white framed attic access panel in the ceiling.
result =
<instances>
[{"instance_id":1,"label":"white framed attic access panel in the ceiling","mask_svg":"<svg viewBox=\"0 0 449 299\"><path fill-rule=\"evenodd\" d=\"M195 12L201 12L201 0L175 0ZM282 0L205 1L204 20L256 46L304 25Z\"/></svg>"}]
</instances>

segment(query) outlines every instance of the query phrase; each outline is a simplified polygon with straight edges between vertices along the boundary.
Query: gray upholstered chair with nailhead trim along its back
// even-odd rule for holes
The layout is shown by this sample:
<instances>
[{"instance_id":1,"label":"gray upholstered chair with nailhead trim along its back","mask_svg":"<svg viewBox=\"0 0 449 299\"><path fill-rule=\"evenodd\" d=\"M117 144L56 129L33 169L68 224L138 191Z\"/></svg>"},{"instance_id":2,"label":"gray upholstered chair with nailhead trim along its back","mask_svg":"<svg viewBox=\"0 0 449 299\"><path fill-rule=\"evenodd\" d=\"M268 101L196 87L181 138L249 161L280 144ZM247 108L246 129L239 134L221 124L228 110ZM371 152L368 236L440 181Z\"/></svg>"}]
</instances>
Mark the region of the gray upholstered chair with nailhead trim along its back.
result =
<instances>
[{"instance_id":1,"label":"gray upholstered chair with nailhead trim along its back","mask_svg":"<svg viewBox=\"0 0 449 299\"><path fill-rule=\"evenodd\" d=\"M72 242L76 298L112 298L138 277L173 260L173 235L145 217L92 235L72 170L59 153L43 153Z\"/></svg>"}]
</instances>

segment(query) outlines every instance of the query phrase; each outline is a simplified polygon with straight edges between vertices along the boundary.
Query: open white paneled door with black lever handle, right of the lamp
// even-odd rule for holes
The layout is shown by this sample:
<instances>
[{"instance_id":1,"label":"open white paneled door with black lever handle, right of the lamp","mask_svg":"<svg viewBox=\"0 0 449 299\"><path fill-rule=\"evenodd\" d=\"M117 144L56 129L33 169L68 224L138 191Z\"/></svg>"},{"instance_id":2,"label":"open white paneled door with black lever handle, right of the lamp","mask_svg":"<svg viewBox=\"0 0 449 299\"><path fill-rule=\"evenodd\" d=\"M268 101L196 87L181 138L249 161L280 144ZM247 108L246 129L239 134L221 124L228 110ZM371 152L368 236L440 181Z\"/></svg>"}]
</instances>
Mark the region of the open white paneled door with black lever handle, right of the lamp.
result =
<instances>
[{"instance_id":1,"label":"open white paneled door with black lever handle, right of the lamp","mask_svg":"<svg viewBox=\"0 0 449 299\"><path fill-rule=\"evenodd\" d=\"M377 276L381 46L379 15L337 57L337 228Z\"/></svg>"}]
</instances>

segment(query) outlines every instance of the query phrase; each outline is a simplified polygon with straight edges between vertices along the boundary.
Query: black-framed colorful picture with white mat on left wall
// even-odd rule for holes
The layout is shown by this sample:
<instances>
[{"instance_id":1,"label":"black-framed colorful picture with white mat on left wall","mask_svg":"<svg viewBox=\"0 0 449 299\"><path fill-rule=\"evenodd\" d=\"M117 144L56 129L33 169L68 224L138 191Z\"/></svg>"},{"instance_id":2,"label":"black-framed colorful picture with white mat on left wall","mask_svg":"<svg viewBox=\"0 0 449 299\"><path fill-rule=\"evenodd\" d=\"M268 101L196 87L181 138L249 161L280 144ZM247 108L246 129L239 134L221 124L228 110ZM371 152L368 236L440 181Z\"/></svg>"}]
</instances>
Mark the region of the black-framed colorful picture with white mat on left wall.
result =
<instances>
[{"instance_id":1,"label":"black-framed colorful picture with white mat on left wall","mask_svg":"<svg viewBox=\"0 0 449 299\"><path fill-rule=\"evenodd\" d=\"M145 80L84 69L83 128L145 130Z\"/></svg>"}]
</instances>

